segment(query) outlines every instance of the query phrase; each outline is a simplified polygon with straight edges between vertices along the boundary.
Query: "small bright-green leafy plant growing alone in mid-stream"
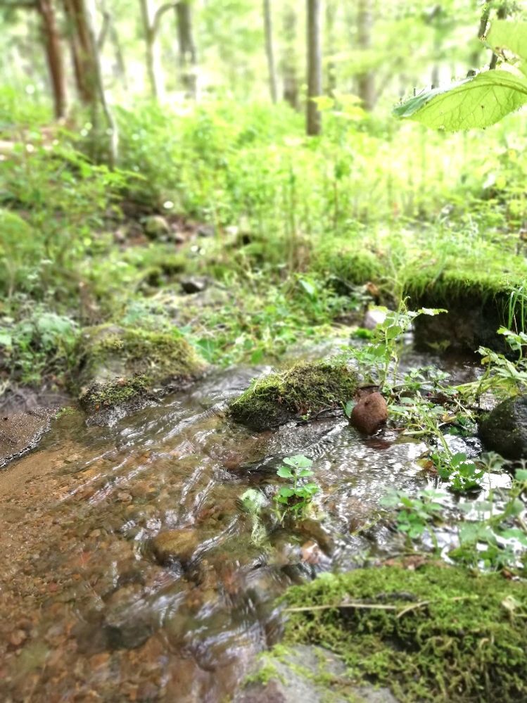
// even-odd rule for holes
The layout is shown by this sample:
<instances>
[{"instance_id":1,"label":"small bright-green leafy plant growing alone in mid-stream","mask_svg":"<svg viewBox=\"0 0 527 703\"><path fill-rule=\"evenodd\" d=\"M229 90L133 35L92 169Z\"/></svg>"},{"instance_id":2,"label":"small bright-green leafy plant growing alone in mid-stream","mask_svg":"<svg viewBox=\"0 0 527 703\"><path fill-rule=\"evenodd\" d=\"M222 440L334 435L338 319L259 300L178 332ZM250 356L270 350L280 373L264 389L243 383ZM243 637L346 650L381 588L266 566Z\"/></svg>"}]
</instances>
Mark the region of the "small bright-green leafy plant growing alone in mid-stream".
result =
<instances>
[{"instance_id":1,"label":"small bright-green leafy plant growing alone in mid-stream","mask_svg":"<svg viewBox=\"0 0 527 703\"><path fill-rule=\"evenodd\" d=\"M317 483L303 482L313 476L312 464L310 459L300 454L284 459L284 464L277 470L277 476L289 480L288 485L282 486L274 496L280 521L286 516L295 520L303 519L307 514L313 497L320 490Z\"/></svg>"}]
</instances>

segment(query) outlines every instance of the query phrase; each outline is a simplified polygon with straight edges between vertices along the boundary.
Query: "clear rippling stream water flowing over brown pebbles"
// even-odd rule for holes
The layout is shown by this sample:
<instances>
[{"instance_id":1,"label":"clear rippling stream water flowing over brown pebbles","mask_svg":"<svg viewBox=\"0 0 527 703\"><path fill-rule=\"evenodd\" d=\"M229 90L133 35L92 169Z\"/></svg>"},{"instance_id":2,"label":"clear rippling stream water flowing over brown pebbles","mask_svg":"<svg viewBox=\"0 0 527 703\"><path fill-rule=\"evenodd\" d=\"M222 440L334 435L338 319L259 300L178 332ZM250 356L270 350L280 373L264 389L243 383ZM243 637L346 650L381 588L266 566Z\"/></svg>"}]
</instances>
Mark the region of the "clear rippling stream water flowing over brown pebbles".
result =
<instances>
[{"instance_id":1,"label":"clear rippling stream water flowing over brown pebbles","mask_svg":"<svg viewBox=\"0 0 527 703\"><path fill-rule=\"evenodd\" d=\"M1 701L220 702L279 640L288 585L400 550L379 499L431 483L424 445L342 417L235 426L225 403L262 370L218 372L110 428L63 414L0 473ZM270 498L295 453L314 460L315 517L254 540L239 496ZM155 549L169 530L179 557Z\"/></svg>"}]
</instances>

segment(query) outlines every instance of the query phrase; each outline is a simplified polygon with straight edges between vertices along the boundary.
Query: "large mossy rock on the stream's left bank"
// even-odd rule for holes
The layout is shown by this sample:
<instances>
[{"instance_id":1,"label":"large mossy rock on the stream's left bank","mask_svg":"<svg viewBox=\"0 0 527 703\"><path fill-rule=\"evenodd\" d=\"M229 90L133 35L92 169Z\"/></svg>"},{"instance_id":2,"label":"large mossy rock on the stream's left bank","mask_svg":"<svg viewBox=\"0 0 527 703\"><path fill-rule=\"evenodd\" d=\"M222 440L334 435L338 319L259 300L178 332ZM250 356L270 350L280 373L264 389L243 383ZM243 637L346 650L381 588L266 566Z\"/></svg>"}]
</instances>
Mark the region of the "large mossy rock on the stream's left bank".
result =
<instances>
[{"instance_id":1,"label":"large mossy rock on the stream's left bank","mask_svg":"<svg viewBox=\"0 0 527 703\"><path fill-rule=\"evenodd\" d=\"M80 403L87 412L138 405L155 388L177 390L205 370L176 329L153 332L101 325L82 333Z\"/></svg>"}]
</instances>

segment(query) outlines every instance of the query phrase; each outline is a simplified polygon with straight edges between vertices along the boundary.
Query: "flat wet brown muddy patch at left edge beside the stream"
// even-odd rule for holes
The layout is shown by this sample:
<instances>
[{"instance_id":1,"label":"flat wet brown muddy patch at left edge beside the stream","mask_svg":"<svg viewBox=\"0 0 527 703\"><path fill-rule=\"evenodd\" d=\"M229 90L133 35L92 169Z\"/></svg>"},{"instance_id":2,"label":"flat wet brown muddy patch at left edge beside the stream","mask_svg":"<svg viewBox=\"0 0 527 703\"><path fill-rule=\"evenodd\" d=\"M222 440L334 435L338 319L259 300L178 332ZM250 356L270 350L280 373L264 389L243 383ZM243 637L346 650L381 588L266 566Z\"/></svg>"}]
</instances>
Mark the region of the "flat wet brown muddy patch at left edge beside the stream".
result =
<instances>
[{"instance_id":1,"label":"flat wet brown muddy patch at left edge beside the stream","mask_svg":"<svg viewBox=\"0 0 527 703\"><path fill-rule=\"evenodd\" d=\"M0 416L0 467L39 443L51 415L49 410L38 410Z\"/></svg>"}]
</instances>

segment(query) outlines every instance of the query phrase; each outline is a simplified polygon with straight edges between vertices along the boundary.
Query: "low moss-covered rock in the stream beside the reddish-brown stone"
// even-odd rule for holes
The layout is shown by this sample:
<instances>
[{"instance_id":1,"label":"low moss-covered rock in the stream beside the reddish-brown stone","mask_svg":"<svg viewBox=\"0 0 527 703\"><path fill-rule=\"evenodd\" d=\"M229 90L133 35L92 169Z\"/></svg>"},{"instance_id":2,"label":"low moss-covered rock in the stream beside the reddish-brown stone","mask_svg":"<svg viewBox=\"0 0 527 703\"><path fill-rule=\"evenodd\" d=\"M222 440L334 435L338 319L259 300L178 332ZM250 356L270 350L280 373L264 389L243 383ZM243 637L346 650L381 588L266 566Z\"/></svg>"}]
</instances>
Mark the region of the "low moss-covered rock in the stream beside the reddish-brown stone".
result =
<instances>
[{"instance_id":1,"label":"low moss-covered rock in the stream beside the reddish-brown stone","mask_svg":"<svg viewBox=\"0 0 527 703\"><path fill-rule=\"evenodd\" d=\"M236 422L261 431L342 407L356 390L357 376L345 364L301 363L253 381L229 412Z\"/></svg>"}]
</instances>

